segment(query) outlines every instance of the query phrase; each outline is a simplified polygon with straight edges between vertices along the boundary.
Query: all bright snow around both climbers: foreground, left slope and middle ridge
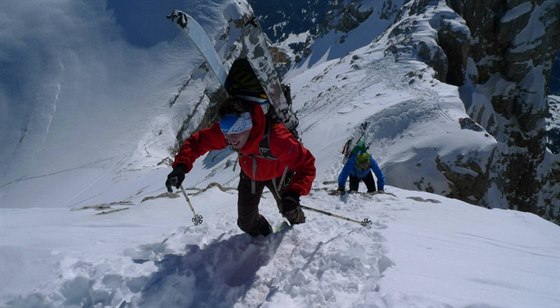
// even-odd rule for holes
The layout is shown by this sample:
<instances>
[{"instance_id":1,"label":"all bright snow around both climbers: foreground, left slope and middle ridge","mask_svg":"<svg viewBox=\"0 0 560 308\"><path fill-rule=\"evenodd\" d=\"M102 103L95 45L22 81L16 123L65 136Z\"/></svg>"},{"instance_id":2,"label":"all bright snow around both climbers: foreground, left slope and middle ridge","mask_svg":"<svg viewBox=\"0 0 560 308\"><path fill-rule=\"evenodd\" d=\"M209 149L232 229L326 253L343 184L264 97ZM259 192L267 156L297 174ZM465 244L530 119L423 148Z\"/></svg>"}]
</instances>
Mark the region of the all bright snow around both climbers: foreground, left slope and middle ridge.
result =
<instances>
[{"instance_id":1,"label":"all bright snow around both climbers: foreground, left slope and middle ridge","mask_svg":"<svg viewBox=\"0 0 560 308\"><path fill-rule=\"evenodd\" d=\"M191 2L207 29L236 10L233 1ZM434 151L451 160L495 143L459 128L457 89L425 65L392 62L380 41L290 74L304 144L317 158L302 204L357 222L306 210L305 224L253 239L236 225L239 168L228 151L199 159L184 183L201 225L163 187L171 170L161 162L198 99L193 83L170 106L199 63L185 38L140 48L103 5L26 3L1 11L39 16L40 31L0 12L0 60L25 68L16 79L0 75L0 307L560 305L557 225L402 188L434 172ZM7 90L17 82L31 94ZM342 144L365 120L375 124L386 193L329 195ZM260 210L282 224L270 193ZM371 228L358 223L365 218Z\"/></svg>"}]
</instances>

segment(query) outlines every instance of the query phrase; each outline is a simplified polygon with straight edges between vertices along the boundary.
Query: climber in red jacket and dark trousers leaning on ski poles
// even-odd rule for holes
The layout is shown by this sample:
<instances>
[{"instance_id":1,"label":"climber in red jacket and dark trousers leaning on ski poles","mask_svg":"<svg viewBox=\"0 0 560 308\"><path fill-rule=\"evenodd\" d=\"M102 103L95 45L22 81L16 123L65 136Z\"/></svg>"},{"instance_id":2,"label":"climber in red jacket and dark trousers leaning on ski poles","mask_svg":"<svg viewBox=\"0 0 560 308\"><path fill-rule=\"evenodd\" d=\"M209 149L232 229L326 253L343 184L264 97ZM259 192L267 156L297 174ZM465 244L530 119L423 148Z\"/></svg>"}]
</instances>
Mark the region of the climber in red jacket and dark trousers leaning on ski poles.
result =
<instances>
[{"instance_id":1,"label":"climber in red jacket and dark trousers leaning on ski poles","mask_svg":"<svg viewBox=\"0 0 560 308\"><path fill-rule=\"evenodd\" d=\"M167 176L166 186L179 188L195 160L210 150L229 146L239 154L241 174L237 199L237 225L244 232L266 236L272 228L259 214L266 186L280 213L290 224L305 222L300 196L307 195L315 179L315 158L282 123L265 115L261 105L239 98L219 108L220 121L186 139Z\"/></svg>"}]
</instances>

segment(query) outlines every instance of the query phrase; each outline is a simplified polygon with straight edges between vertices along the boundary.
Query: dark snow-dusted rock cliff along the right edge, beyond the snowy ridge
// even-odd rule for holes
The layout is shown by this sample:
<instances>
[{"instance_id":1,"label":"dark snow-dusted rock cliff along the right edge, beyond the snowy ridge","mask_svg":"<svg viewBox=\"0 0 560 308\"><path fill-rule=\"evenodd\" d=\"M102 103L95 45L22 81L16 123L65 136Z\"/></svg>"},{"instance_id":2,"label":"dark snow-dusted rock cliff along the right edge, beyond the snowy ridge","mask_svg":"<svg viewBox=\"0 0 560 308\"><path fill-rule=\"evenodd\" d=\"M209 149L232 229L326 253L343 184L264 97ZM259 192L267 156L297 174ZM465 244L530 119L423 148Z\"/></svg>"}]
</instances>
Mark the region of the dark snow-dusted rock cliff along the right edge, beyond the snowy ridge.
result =
<instances>
[{"instance_id":1,"label":"dark snow-dusted rock cliff along the right edge, beyond the snowy ridge","mask_svg":"<svg viewBox=\"0 0 560 308\"><path fill-rule=\"evenodd\" d=\"M488 180L514 209L557 216L558 157L547 157L547 85L560 48L558 1L447 1L470 32L468 111L500 142ZM551 188L556 188L555 190ZM494 195L493 195L494 194ZM489 191L481 204L496 206Z\"/></svg>"}]
</instances>

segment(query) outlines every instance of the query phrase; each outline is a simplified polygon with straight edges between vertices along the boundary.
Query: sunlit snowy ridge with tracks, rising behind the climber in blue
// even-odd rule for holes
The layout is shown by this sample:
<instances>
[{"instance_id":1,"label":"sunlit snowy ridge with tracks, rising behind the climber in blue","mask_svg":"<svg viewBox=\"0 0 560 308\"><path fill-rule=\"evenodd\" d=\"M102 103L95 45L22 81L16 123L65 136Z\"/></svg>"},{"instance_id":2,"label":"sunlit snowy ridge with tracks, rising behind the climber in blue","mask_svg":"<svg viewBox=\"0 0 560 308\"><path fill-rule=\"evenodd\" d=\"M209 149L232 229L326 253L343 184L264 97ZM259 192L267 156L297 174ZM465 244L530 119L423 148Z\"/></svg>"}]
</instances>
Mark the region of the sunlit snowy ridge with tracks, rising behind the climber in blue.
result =
<instances>
[{"instance_id":1,"label":"sunlit snowy ridge with tracks, rising behind the climber in blue","mask_svg":"<svg viewBox=\"0 0 560 308\"><path fill-rule=\"evenodd\" d=\"M345 138L368 122L366 141L388 184L449 193L451 184L438 170L438 160L470 173L457 160L476 157L484 169L496 140L461 127L460 119L468 116L456 87L437 81L423 63L384 56L383 46L357 49L289 79L304 143L321 162L317 177L338 175ZM323 136L331 142L325 144Z\"/></svg>"}]
</instances>

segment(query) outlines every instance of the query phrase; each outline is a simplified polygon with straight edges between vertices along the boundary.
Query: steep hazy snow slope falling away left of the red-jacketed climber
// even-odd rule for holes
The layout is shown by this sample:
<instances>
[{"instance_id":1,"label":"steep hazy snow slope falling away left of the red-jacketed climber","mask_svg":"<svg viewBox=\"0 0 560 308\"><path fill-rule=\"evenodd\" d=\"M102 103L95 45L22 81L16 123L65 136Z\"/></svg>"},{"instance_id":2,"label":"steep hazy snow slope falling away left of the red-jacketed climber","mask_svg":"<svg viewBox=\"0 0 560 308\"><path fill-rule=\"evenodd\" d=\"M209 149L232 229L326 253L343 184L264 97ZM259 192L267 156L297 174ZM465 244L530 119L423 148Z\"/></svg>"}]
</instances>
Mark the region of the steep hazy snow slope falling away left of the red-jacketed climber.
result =
<instances>
[{"instance_id":1,"label":"steep hazy snow slope falling away left of the red-jacketed climber","mask_svg":"<svg viewBox=\"0 0 560 308\"><path fill-rule=\"evenodd\" d=\"M189 52L193 47L165 18L177 2L152 3L153 20L146 22L165 38L174 35L149 47L135 43L145 35L140 19L121 18L141 16L149 4L136 11L130 1L109 4L2 3L1 207L71 207L130 198L137 187L115 188L120 192L114 195L114 185L126 181L127 172L169 157L198 99L200 82L192 82L186 93L181 87L201 56ZM204 8L200 22L216 32L225 23L224 10L237 5L216 0L188 7ZM13 17L24 15L36 18Z\"/></svg>"}]
</instances>

